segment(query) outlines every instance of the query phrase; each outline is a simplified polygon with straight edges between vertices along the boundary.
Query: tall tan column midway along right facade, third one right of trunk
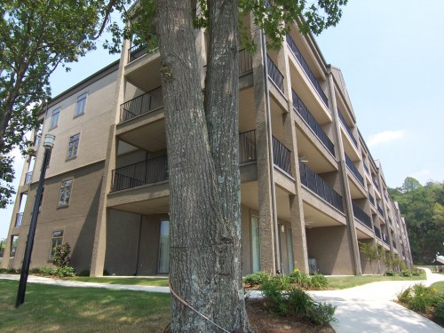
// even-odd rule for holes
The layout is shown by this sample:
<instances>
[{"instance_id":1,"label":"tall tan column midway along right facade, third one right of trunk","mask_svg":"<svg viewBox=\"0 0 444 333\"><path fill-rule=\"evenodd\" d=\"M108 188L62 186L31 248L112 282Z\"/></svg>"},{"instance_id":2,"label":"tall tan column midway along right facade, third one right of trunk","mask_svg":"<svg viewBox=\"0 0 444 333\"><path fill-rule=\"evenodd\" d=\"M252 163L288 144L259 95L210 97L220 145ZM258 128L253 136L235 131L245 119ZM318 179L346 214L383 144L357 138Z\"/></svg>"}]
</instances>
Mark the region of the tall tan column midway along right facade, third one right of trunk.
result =
<instances>
[{"instance_id":1,"label":"tall tan column midway along right facade, third one right of trunk","mask_svg":"<svg viewBox=\"0 0 444 333\"><path fill-rule=\"evenodd\" d=\"M354 215L353 215L353 204L352 204L352 194L350 192L350 186L348 184L347 177L347 166L345 164L344 155L344 143L341 136L341 124L339 120L339 115L337 114L337 101L335 95L335 83L333 80L333 74L331 73L331 67L329 67L329 92L330 92L330 110L333 112L334 125L337 137L337 154L339 160L339 178L342 180L342 193L345 195L345 216L347 218L347 235L350 242L350 248L352 253L351 260L354 262L354 274L361 275L361 258L358 246L358 236L356 234L356 227L354 226Z\"/></svg>"}]
</instances>

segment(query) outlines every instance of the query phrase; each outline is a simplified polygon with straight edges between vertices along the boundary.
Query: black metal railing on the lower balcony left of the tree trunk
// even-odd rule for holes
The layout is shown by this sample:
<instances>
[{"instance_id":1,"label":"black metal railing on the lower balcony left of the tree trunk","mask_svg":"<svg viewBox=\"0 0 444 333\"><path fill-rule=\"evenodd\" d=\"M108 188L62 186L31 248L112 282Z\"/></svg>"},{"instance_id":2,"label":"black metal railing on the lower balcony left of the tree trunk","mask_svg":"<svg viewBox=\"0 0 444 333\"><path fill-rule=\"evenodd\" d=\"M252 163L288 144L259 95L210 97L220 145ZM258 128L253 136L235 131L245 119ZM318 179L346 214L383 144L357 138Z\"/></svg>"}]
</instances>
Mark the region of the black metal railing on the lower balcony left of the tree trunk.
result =
<instances>
[{"instance_id":1,"label":"black metal railing on the lower balcony left of the tree trunk","mask_svg":"<svg viewBox=\"0 0 444 333\"><path fill-rule=\"evenodd\" d=\"M113 170L111 191L157 183L168 179L167 155Z\"/></svg>"}]
</instances>

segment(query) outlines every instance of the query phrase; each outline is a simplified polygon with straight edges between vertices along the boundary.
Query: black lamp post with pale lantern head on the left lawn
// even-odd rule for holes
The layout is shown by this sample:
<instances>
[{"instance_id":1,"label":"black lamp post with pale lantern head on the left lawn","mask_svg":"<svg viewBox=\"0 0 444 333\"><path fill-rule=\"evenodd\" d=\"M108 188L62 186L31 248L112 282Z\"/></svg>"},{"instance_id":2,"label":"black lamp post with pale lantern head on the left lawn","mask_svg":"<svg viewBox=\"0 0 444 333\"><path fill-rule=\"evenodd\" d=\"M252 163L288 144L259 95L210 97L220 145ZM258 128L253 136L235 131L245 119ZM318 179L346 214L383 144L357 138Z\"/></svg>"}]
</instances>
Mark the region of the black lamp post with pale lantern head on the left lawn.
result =
<instances>
[{"instance_id":1,"label":"black lamp post with pale lantern head on the left lawn","mask_svg":"<svg viewBox=\"0 0 444 333\"><path fill-rule=\"evenodd\" d=\"M44 136L44 163L42 164L42 170L40 172L40 178L38 180L36 201L32 210L31 224L28 232L28 242L25 249L25 257L23 258L23 265L21 266L20 283L17 291L17 300L15 301L15 307L18 308L25 302L25 292L27 289L27 281L29 274L29 264L31 263L32 247L34 245L34 234L36 234L38 210L41 201L41 196L44 189L44 174L46 173L46 165L50 156L52 147L54 147L55 136L52 134L46 134Z\"/></svg>"}]
</instances>

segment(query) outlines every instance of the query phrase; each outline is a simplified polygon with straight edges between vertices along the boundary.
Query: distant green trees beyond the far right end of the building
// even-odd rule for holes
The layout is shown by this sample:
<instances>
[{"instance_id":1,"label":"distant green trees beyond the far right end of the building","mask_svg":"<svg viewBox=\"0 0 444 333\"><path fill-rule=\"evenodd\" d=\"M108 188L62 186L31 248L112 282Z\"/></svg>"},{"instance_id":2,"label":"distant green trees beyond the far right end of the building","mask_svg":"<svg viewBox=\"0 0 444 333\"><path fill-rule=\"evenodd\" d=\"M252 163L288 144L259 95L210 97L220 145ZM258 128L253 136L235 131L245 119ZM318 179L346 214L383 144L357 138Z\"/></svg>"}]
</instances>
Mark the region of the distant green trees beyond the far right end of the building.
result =
<instances>
[{"instance_id":1,"label":"distant green trees beyond the far right end of the building","mask_svg":"<svg viewBox=\"0 0 444 333\"><path fill-rule=\"evenodd\" d=\"M437 253L444 254L444 182L423 186L408 177L389 193L406 220L413 262L431 265Z\"/></svg>"}]
</instances>

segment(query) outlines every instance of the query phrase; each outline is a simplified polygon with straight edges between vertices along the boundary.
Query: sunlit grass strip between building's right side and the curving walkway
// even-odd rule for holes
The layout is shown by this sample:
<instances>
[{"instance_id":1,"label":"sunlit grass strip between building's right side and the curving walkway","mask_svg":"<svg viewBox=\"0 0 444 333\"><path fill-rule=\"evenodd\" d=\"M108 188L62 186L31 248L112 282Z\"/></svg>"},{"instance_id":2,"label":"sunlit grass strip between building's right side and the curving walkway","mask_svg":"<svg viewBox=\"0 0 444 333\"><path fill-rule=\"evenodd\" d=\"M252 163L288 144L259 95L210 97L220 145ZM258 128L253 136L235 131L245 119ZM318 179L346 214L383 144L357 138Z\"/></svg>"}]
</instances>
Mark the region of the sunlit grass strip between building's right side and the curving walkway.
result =
<instances>
[{"instance_id":1,"label":"sunlit grass strip between building's right side and the curving walkway","mask_svg":"<svg viewBox=\"0 0 444 333\"><path fill-rule=\"evenodd\" d=\"M402 277L397 276L383 276L383 275L357 275L357 276L326 276L329 281L329 288L332 289L347 289L362 284L367 284L377 281L416 281L425 280L425 273L421 270L419 276Z\"/></svg>"}]
</instances>

